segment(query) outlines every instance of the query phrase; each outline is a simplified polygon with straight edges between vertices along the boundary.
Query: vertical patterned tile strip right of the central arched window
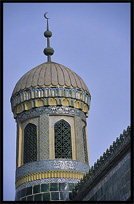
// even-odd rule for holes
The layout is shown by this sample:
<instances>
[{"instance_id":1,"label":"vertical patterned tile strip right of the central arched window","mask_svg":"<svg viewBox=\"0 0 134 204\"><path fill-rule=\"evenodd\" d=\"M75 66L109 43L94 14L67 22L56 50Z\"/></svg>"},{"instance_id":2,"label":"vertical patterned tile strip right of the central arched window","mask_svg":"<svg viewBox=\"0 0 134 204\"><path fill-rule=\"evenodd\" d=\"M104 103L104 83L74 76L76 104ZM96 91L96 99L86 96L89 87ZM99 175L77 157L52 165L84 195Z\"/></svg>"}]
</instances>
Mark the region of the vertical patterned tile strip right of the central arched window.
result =
<instances>
[{"instance_id":1,"label":"vertical patterned tile strip right of the central arched window","mask_svg":"<svg viewBox=\"0 0 134 204\"><path fill-rule=\"evenodd\" d=\"M82 121L81 118L79 117L75 117L75 133L76 133L77 160L85 162Z\"/></svg>"}]
</instances>

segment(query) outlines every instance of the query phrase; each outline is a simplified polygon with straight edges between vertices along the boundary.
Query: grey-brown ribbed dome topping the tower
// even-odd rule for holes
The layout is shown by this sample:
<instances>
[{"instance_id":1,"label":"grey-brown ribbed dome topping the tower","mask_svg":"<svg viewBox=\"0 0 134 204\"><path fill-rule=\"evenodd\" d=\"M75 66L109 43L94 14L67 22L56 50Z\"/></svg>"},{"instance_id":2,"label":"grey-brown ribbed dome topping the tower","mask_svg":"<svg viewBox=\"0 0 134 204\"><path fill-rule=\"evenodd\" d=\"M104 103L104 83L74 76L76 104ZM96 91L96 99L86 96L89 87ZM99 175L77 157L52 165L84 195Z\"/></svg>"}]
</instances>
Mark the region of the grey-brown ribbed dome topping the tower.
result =
<instances>
[{"instance_id":1,"label":"grey-brown ribbed dome topping the tower","mask_svg":"<svg viewBox=\"0 0 134 204\"><path fill-rule=\"evenodd\" d=\"M43 63L24 74L17 82L12 96L21 90L36 86L72 86L89 93L80 76L69 68L55 62Z\"/></svg>"}]
</instances>

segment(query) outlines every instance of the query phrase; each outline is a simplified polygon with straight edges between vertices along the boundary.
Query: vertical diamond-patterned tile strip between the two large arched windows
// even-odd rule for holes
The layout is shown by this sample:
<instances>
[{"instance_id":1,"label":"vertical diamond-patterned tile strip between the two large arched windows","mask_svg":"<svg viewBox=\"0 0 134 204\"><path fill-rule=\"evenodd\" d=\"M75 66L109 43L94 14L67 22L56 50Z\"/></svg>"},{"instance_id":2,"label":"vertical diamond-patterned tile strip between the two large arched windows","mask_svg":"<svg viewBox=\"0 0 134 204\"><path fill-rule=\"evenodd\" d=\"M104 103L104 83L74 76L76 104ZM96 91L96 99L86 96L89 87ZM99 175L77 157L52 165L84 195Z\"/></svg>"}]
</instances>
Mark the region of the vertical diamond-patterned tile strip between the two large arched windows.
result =
<instances>
[{"instance_id":1,"label":"vertical diamond-patterned tile strip between the two large arched windows","mask_svg":"<svg viewBox=\"0 0 134 204\"><path fill-rule=\"evenodd\" d=\"M49 159L49 117L40 116L40 159Z\"/></svg>"}]
</instances>

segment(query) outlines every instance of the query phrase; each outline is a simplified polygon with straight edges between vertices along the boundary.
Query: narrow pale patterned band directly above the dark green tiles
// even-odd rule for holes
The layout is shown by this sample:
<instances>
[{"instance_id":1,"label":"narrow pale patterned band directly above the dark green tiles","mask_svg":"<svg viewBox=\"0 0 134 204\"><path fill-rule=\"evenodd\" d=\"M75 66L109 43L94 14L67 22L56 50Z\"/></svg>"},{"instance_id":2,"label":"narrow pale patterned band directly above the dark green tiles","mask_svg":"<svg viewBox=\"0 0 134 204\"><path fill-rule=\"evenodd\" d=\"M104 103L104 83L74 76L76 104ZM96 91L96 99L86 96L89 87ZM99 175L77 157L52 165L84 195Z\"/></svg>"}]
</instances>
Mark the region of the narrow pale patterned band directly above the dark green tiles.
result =
<instances>
[{"instance_id":1,"label":"narrow pale patterned band directly above the dark green tiles","mask_svg":"<svg viewBox=\"0 0 134 204\"><path fill-rule=\"evenodd\" d=\"M47 179L39 179L35 181L30 181L27 183L21 184L17 189L16 193L24 188L37 185L37 184L43 184L43 183L78 183L79 179L75 178L47 178Z\"/></svg>"}]
</instances>

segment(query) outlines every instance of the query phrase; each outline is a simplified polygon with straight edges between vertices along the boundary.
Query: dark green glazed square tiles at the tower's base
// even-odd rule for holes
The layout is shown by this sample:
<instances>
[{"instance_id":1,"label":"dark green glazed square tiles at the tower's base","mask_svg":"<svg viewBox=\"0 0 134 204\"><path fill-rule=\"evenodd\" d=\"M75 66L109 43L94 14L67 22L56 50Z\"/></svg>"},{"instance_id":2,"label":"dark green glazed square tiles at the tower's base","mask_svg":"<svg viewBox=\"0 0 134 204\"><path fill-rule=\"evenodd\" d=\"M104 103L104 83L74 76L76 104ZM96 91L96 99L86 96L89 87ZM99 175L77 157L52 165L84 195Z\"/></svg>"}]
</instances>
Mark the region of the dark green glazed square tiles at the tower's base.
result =
<instances>
[{"instance_id":1,"label":"dark green glazed square tiles at the tower's base","mask_svg":"<svg viewBox=\"0 0 134 204\"><path fill-rule=\"evenodd\" d=\"M62 179L62 178L61 178ZM69 200L76 183L67 181L33 184L16 191L16 201L58 201Z\"/></svg>"}]
</instances>

